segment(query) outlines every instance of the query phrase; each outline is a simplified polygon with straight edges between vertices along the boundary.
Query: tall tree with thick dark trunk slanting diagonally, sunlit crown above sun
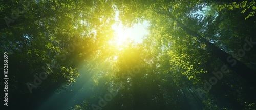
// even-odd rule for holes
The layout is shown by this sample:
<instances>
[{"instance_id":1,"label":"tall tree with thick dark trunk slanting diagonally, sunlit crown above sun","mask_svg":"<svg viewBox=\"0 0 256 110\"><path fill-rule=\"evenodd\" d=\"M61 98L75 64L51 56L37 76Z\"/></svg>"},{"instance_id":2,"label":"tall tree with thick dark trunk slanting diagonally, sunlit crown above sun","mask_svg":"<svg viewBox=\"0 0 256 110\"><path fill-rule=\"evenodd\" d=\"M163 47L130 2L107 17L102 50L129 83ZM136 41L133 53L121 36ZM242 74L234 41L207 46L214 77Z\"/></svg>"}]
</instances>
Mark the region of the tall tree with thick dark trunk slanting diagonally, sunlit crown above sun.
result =
<instances>
[{"instance_id":1,"label":"tall tree with thick dark trunk slanting diagonally, sunlit crown above sun","mask_svg":"<svg viewBox=\"0 0 256 110\"><path fill-rule=\"evenodd\" d=\"M179 21L176 17L180 17L179 19L184 20L186 19L185 17L188 16L189 14L191 14L191 12L193 13L193 11L195 12L195 7L197 8L197 10L200 10L200 8L202 8L202 6L204 4L198 4L199 2L187 2L187 1L158 1L158 2L147 2L144 3L142 1L138 1L136 3L134 3L134 1L132 2L128 2L126 4L119 4L117 2L117 4L119 4L120 6L122 6L123 8L120 8L120 12L122 13L123 16L125 16L123 18L123 21L127 21L128 23L131 23L131 21L136 21L136 18L144 18L145 20L152 20L154 16L154 13L157 14L162 14L165 19L169 19L169 20L173 20L173 23L175 23L178 27L180 27L181 29L183 29L185 32L187 32L189 34L189 37L193 37L195 36L196 39L200 42L206 45L206 49L208 52L210 52L211 54L216 55L220 60L222 60L225 64L228 65L228 67L230 69L232 69L233 71L235 71L237 74L239 74L242 78L244 78L246 81L249 82L249 84L251 84L251 86L255 87L255 80L254 77L256 76L255 71L253 71L251 68L248 68L245 64L243 64L242 62L238 61L236 58L233 58L232 55L224 52L223 50L219 49L218 47L216 47L214 44L212 44L211 42L209 42L208 40L206 40L204 37L202 37L200 34L198 34L197 32L189 29L187 26L185 26L184 24L181 23L181 21ZM200 2L201 3L201 2ZM136 4L136 5L135 5ZM145 5L146 4L146 5ZM183 5L184 6L181 6ZM191 7L187 7L188 4ZM148 8L150 7L150 8ZM135 10L128 10L127 9L135 9ZM129 12L130 11L130 12ZM137 14L135 14L135 12ZM135 15L130 15L130 14L135 14ZM137 16L136 16L137 15ZM175 16L173 16L175 15ZM129 17L132 16L132 17ZM135 17L136 16L136 17ZM147 17L146 17L147 16ZM166 18L168 17L168 18ZM193 24L191 24L193 25ZM251 47L253 47L254 43L252 38L249 39L245 39L247 45L248 46L246 49L248 51L248 49L251 49ZM244 56L244 52L239 51L239 55L240 56Z\"/></svg>"}]
</instances>

